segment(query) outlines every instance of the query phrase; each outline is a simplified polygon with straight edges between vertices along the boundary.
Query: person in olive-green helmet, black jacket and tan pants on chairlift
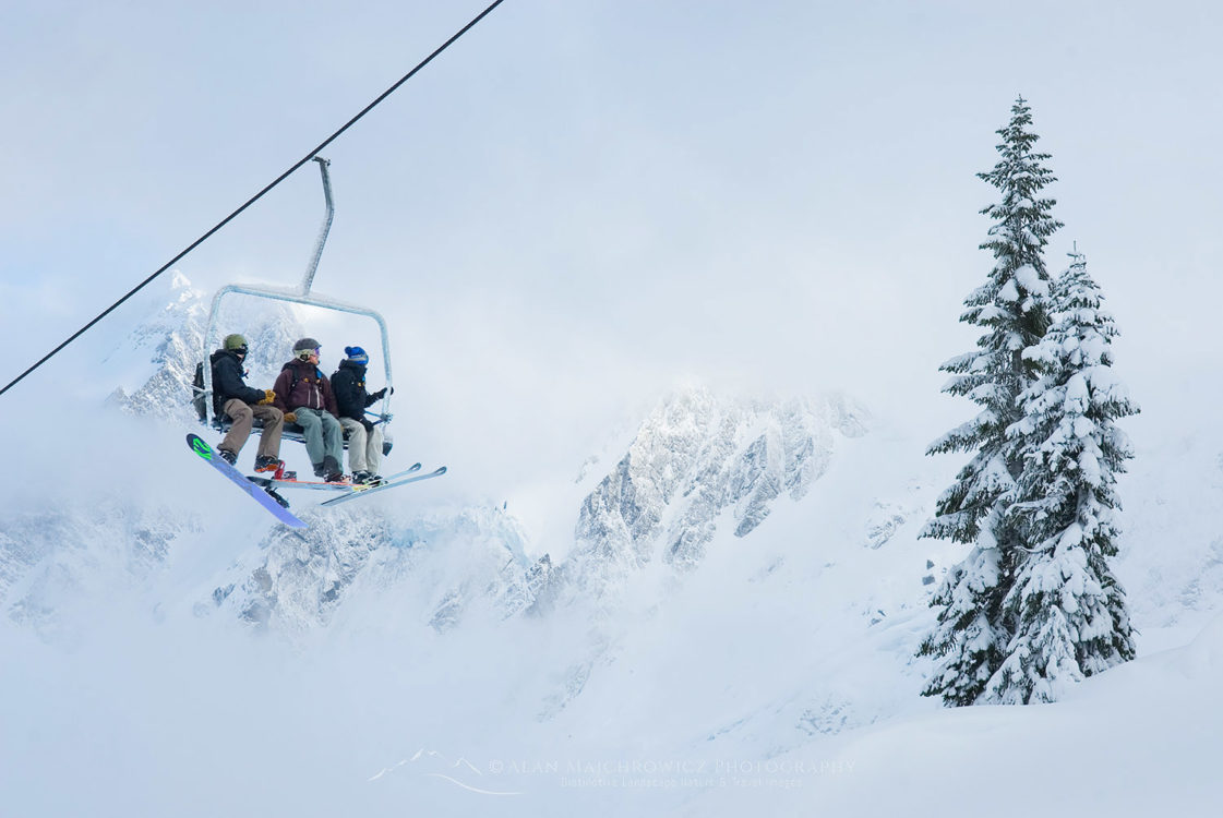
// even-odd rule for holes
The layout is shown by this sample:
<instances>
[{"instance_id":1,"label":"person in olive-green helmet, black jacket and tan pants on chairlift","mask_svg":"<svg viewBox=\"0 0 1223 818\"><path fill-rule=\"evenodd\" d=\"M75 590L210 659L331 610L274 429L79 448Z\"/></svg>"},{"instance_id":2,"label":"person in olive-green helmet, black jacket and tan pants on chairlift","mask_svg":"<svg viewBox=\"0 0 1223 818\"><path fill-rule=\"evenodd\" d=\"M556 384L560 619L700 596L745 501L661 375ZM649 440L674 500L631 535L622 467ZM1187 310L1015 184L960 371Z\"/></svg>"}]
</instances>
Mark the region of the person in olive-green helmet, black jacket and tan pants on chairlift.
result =
<instances>
[{"instance_id":1,"label":"person in olive-green helmet, black jacket and tan pants on chairlift","mask_svg":"<svg viewBox=\"0 0 1223 818\"><path fill-rule=\"evenodd\" d=\"M213 410L218 416L225 413L234 421L216 450L230 465L236 463L238 452L251 437L254 418L259 418L263 433L259 435L254 471L272 472L280 466L280 432L285 418L280 410L270 405L276 397L274 391L246 385L242 370L246 352L245 337L226 335L224 348L216 350L209 358L213 366Z\"/></svg>"}]
</instances>

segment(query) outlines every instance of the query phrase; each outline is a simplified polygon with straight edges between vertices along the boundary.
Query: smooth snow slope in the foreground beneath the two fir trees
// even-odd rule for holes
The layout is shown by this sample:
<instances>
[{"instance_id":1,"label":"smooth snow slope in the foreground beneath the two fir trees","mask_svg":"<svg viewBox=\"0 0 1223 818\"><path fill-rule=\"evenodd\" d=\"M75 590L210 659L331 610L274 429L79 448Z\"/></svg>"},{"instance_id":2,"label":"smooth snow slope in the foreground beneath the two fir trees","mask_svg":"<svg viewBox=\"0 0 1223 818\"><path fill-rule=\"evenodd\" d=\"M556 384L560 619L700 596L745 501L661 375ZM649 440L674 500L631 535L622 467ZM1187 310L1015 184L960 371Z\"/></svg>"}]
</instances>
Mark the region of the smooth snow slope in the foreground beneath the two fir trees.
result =
<instances>
[{"instance_id":1,"label":"smooth snow slope in the foreground beneath the two fir trees","mask_svg":"<svg viewBox=\"0 0 1223 818\"><path fill-rule=\"evenodd\" d=\"M773 759L772 814L1216 816L1223 751L1223 617L1055 704L905 717ZM799 775L795 769L817 770ZM1022 781L1016 789L1016 775ZM805 779L805 780L804 780ZM686 814L761 809L728 787Z\"/></svg>"}]
</instances>

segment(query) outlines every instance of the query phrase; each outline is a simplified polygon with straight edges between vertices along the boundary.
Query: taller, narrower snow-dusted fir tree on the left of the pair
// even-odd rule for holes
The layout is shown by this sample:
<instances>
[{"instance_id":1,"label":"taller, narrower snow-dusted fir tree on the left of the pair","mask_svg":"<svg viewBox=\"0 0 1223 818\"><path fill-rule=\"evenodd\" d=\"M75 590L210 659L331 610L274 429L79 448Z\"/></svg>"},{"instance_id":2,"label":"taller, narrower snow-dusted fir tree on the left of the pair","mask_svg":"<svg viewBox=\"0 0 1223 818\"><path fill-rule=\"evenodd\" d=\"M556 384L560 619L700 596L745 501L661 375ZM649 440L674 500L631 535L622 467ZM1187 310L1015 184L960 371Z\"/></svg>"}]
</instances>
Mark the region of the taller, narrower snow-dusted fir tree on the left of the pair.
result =
<instances>
[{"instance_id":1,"label":"taller, narrower snow-dusted fir tree on the left of the pair","mask_svg":"<svg viewBox=\"0 0 1223 818\"><path fill-rule=\"evenodd\" d=\"M928 451L976 452L939 496L936 516L922 531L923 537L972 545L936 592L931 605L939 609L938 622L918 650L940 659L923 692L942 696L948 706L977 702L1011 639L1003 602L1019 538L1007 510L1024 459L1007 429L1020 419L1019 396L1036 379L1035 362L1022 353L1048 328L1049 275L1042 253L1062 226L1051 214L1054 199L1041 196L1055 179L1043 164L1051 157L1035 150L1040 137L1031 125L1031 109L1020 97L1010 122L998 131L998 164L978 174L1000 194L998 203L982 210L993 224L981 249L993 253L994 267L985 285L965 300L960 320L980 326L982 334L975 351L942 366L951 373L943 391L969 397L981 411Z\"/></svg>"}]
</instances>

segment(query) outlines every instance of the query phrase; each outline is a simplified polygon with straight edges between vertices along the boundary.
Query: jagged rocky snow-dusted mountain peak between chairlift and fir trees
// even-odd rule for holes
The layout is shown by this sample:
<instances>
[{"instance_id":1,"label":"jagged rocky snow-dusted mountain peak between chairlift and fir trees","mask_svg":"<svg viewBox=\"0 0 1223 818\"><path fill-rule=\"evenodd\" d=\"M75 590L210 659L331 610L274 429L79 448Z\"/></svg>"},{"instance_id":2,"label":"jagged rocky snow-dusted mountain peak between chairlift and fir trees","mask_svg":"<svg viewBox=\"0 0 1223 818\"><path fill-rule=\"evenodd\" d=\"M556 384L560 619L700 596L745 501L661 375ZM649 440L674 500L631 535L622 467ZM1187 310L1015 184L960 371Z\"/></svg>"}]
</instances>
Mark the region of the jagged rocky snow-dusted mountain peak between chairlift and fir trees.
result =
<instances>
[{"instance_id":1,"label":"jagged rocky snow-dusted mountain peak between chairlift and fir trees","mask_svg":"<svg viewBox=\"0 0 1223 818\"><path fill-rule=\"evenodd\" d=\"M862 435L867 417L841 395L763 401L704 388L674 392L582 503L572 556L580 584L599 595L656 559L691 567L719 526L747 536L781 495L802 499L837 439Z\"/></svg>"}]
</instances>

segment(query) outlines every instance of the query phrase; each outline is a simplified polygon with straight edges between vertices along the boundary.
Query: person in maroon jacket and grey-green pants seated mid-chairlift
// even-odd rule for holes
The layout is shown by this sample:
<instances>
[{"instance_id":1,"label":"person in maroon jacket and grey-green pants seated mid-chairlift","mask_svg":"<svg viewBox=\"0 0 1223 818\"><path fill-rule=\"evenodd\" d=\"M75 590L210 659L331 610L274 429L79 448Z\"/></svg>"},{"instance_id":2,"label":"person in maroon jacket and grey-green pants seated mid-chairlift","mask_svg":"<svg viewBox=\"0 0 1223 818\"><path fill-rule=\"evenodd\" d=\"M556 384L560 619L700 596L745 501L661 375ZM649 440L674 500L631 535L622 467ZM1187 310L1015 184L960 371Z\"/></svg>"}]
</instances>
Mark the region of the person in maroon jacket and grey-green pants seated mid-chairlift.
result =
<instances>
[{"instance_id":1,"label":"person in maroon jacket and grey-green pants seated mid-chairlift","mask_svg":"<svg viewBox=\"0 0 1223 818\"><path fill-rule=\"evenodd\" d=\"M344 430L331 383L318 368L319 342L303 337L294 344L294 359L280 369L272 390L285 423L296 423L306 435L306 452L314 474L328 483L344 479Z\"/></svg>"}]
</instances>

